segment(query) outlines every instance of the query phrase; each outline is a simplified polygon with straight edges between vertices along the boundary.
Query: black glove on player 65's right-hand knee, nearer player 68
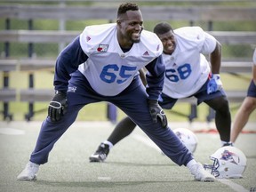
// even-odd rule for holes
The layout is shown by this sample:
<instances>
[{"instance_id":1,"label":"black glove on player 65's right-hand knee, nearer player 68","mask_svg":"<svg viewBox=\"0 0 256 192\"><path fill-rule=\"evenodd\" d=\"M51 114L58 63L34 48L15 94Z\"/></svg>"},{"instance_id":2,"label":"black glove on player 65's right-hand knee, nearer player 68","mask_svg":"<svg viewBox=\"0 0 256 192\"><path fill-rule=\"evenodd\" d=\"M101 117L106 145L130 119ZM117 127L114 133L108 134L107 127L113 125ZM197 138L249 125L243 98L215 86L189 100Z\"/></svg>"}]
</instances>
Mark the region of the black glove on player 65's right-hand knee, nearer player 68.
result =
<instances>
[{"instance_id":1,"label":"black glove on player 65's right-hand knee, nearer player 68","mask_svg":"<svg viewBox=\"0 0 256 192\"><path fill-rule=\"evenodd\" d=\"M157 100L148 100L149 112L152 116L153 122L157 123L157 118L160 120L164 128L167 127L167 118L164 114L163 108L158 104Z\"/></svg>"}]
</instances>

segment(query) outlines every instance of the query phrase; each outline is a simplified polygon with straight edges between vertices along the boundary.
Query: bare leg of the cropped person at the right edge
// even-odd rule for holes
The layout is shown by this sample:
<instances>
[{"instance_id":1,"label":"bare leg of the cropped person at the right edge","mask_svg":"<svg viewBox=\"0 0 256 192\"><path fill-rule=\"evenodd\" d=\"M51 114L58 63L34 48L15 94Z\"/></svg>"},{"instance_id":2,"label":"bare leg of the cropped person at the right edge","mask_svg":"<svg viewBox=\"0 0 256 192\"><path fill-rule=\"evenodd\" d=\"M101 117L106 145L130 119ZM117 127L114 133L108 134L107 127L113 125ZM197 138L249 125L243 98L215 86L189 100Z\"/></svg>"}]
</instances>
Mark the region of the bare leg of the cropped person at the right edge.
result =
<instances>
[{"instance_id":1,"label":"bare leg of the cropped person at the right edge","mask_svg":"<svg viewBox=\"0 0 256 192\"><path fill-rule=\"evenodd\" d=\"M231 142L235 142L239 133L243 130L245 124L247 124L249 116L252 111L256 108L256 98L246 97L238 109L233 128L231 130Z\"/></svg>"}]
</instances>

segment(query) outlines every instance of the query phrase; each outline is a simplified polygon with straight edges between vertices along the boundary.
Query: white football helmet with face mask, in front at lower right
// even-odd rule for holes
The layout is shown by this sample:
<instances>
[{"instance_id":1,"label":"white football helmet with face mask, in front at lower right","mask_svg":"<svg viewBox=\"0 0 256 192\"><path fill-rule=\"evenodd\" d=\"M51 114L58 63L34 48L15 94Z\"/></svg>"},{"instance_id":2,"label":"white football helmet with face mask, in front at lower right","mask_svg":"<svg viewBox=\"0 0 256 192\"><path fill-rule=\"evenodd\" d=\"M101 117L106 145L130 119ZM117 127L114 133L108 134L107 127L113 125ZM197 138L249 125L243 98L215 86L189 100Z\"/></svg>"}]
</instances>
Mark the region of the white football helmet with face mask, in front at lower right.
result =
<instances>
[{"instance_id":1,"label":"white football helmet with face mask, in front at lower right","mask_svg":"<svg viewBox=\"0 0 256 192\"><path fill-rule=\"evenodd\" d=\"M210 159L213 164L204 164L208 170L217 178L243 178L246 168L246 156L235 147L226 146L219 148Z\"/></svg>"}]
</instances>

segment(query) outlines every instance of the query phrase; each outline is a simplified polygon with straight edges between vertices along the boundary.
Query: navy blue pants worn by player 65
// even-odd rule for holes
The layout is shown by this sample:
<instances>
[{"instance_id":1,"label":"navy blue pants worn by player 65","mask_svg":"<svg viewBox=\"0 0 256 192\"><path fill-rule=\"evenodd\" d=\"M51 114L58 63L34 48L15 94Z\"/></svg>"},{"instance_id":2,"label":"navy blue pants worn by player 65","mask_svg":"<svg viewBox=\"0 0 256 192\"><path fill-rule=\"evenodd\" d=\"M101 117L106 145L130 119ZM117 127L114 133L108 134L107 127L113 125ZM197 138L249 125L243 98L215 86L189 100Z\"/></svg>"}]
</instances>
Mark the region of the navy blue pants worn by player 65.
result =
<instances>
[{"instance_id":1,"label":"navy blue pants worn by player 65","mask_svg":"<svg viewBox=\"0 0 256 192\"><path fill-rule=\"evenodd\" d=\"M67 113L62 116L60 121L52 122L50 117L44 120L36 141L36 148L30 156L31 162L47 163L55 142L75 122L78 111L89 103L99 101L111 102L122 109L174 163L187 165L193 159L188 148L180 142L170 128L164 129L159 122L153 123L148 109L148 94L140 83L139 76L136 76L132 84L123 92L116 96L106 97L94 92L87 79L79 71L76 71L69 80L67 97Z\"/></svg>"}]
</instances>

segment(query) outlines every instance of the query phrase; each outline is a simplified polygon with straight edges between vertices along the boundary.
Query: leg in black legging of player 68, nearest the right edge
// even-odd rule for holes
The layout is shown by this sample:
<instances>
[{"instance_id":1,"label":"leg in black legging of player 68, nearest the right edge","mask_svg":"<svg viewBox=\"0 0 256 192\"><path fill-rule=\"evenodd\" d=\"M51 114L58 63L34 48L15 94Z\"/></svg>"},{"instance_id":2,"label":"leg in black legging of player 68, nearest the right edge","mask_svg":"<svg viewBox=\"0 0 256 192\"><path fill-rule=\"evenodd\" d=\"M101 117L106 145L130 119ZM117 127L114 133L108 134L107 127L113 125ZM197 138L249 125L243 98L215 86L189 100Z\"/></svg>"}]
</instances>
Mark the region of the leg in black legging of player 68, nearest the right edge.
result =
<instances>
[{"instance_id":1,"label":"leg in black legging of player 68, nearest the right edge","mask_svg":"<svg viewBox=\"0 0 256 192\"><path fill-rule=\"evenodd\" d=\"M231 131L231 115L227 97L222 95L204 102L215 110L215 124L220 134L220 140L224 142L230 141Z\"/></svg>"}]
</instances>

